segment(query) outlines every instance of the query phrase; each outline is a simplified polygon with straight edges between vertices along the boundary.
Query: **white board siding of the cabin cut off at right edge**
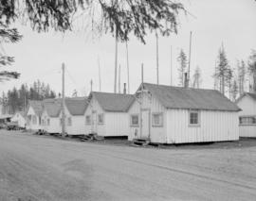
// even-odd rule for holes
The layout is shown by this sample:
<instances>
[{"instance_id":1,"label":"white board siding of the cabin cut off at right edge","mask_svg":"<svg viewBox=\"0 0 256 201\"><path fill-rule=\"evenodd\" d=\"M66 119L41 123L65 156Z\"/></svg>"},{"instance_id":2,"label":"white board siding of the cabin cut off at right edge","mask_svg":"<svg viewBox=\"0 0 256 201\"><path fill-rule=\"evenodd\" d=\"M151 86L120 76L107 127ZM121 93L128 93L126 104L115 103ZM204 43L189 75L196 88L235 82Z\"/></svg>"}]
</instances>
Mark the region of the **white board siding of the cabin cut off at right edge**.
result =
<instances>
[{"instance_id":1,"label":"white board siding of the cabin cut off at right edge","mask_svg":"<svg viewBox=\"0 0 256 201\"><path fill-rule=\"evenodd\" d=\"M239 116L256 116L256 101L251 97L244 96L238 103ZM239 136L241 137L256 137L256 125L240 125Z\"/></svg>"}]
</instances>

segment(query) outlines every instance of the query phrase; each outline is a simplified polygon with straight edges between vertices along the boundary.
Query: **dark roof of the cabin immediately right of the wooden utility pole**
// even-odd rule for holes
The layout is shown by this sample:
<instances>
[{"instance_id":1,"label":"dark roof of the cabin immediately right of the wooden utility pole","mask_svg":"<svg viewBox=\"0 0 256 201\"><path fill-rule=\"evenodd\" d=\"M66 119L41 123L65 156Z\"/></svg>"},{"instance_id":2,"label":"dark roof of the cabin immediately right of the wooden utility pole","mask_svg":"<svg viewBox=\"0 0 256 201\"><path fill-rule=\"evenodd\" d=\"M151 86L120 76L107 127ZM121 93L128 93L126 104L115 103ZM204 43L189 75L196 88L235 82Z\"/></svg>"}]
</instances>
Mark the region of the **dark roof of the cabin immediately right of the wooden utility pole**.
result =
<instances>
[{"instance_id":1,"label":"dark roof of the cabin immediately right of the wooden utility pole","mask_svg":"<svg viewBox=\"0 0 256 201\"><path fill-rule=\"evenodd\" d=\"M87 108L86 97L65 98L65 106L71 115L83 115Z\"/></svg>"}]
</instances>

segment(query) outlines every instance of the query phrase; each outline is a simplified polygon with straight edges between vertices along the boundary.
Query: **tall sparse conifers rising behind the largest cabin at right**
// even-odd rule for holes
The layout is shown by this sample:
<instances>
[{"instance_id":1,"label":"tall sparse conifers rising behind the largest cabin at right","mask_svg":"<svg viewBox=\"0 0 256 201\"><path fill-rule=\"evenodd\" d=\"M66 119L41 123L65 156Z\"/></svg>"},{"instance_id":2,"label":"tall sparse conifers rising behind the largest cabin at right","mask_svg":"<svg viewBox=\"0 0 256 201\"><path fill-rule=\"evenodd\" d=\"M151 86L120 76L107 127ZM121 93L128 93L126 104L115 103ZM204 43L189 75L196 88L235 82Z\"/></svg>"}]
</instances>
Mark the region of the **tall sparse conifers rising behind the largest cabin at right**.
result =
<instances>
[{"instance_id":1,"label":"tall sparse conifers rising behind the largest cabin at right","mask_svg":"<svg viewBox=\"0 0 256 201\"><path fill-rule=\"evenodd\" d=\"M185 86L185 73L188 72L188 59L183 49L178 57L178 86ZM217 90L230 100L235 101L244 92L256 92L256 50L251 50L247 60L237 60L235 66L229 64L227 53L222 45L218 51L214 66L214 90ZM189 79L188 86L200 88L202 84L201 69L197 66Z\"/></svg>"}]
</instances>

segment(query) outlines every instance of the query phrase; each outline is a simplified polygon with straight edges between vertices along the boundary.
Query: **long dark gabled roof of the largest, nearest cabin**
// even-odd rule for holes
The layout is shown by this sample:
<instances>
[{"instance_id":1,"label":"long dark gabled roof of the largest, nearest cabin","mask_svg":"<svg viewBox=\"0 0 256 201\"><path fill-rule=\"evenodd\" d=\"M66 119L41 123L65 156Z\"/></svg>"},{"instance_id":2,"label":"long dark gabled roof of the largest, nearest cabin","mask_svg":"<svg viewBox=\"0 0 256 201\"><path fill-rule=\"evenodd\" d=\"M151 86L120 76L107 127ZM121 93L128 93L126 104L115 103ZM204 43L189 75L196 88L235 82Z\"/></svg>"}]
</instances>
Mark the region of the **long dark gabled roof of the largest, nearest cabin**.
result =
<instances>
[{"instance_id":1,"label":"long dark gabled roof of the largest, nearest cabin","mask_svg":"<svg viewBox=\"0 0 256 201\"><path fill-rule=\"evenodd\" d=\"M149 83L143 83L143 86L167 109L240 110L236 104L215 90L171 87ZM138 91L140 89L141 85Z\"/></svg>"}]
</instances>

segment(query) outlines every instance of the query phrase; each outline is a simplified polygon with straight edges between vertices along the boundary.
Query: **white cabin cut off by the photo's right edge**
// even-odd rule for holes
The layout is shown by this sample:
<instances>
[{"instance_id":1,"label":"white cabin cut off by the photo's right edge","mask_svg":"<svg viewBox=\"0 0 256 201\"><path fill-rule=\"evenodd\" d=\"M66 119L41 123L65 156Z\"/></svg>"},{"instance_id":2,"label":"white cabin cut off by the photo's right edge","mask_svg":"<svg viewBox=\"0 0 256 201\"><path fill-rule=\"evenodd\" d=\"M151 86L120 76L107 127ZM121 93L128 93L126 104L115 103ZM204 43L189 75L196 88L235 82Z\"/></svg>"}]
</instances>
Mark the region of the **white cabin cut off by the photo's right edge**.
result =
<instances>
[{"instance_id":1,"label":"white cabin cut off by the photo's right edge","mask_svg":"<svg viewBox=\"0 0 256 201\"><path fill-rule=\"evenodd\" d=\"M237 101L239 111L239 136L256 137L256 93L246 92Z\"/></svg>"}]
</instances>

